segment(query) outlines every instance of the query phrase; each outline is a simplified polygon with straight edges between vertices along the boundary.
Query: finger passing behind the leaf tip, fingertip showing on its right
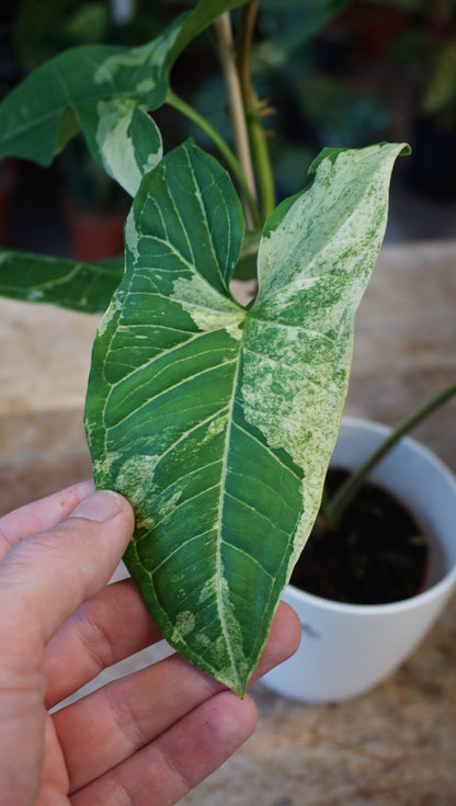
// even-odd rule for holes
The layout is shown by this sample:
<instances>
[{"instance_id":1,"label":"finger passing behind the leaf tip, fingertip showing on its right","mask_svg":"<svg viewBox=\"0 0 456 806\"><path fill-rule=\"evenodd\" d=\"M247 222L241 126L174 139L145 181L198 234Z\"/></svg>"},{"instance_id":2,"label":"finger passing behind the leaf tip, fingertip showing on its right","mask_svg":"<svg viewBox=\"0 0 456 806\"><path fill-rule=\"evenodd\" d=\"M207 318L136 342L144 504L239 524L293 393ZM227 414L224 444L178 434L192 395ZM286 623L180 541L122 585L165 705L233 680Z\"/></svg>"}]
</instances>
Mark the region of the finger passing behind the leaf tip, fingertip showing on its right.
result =
<instances>
[{"instance_id":1,"label":"finger passing behind the leaf tip, fingertip showing on its right","mask_svg":"<svg viewBox=\"0 0 456 806\"><path fill-rule=\"evenodd\" d=\"M296 614L281 603L252 681L293 654L299 637ZM71 787L80 788L133 756L223 689L173 655L57 712L54 724Z\"/></svg>"}]
</instances>

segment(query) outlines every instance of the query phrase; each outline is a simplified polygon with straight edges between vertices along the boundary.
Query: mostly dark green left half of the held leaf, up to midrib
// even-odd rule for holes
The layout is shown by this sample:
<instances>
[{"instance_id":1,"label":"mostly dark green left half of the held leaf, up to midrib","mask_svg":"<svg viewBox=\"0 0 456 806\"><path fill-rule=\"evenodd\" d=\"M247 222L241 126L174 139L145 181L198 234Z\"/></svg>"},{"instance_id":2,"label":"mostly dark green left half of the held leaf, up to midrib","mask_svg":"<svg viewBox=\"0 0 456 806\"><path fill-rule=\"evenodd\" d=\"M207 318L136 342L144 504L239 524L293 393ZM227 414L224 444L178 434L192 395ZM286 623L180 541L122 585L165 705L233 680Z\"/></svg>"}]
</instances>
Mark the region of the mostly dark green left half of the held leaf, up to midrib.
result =
<instances>
[{"instance_id":1,"label":"mostly dark green left half of the held leaf, up to midrib","mask_svg":"<svg viewBox=\"0 0 456 806\"><path fill-rule=\"evenodd\" d=\"M218 485L224 475L227 413L244 318L226 288L243 235L239 201L235 196L230 208L226 205L230 194L225 171L191 144L145 179L126 229L125 280L94 347L86 422L98 484L128 490L136 507L136 538L126 561L160 628L186 657L213 671L218 666L224 679L239 689L243 683L237 679L231 649L237 627L231 618L229 633L226 628L219 565L221 497L214 484L214 472ZM228 232L221 247L214 242L220 226ZM190 232L200 239L197 254ZM153 329L156 338L142 359L145 307L146 330L150 336ZM132 349L139 356L134 368L127 365ZM123 455L116 463L118 452ZM150 533L157 536L153 542ZM189 547L191 555L196 548L203 554L194 570L200 575L200 609L195 602L185 606ZM197 635L193 646L189 634ZM198 644L205 645L206 660Z\"/></svg>"}]
</instances>

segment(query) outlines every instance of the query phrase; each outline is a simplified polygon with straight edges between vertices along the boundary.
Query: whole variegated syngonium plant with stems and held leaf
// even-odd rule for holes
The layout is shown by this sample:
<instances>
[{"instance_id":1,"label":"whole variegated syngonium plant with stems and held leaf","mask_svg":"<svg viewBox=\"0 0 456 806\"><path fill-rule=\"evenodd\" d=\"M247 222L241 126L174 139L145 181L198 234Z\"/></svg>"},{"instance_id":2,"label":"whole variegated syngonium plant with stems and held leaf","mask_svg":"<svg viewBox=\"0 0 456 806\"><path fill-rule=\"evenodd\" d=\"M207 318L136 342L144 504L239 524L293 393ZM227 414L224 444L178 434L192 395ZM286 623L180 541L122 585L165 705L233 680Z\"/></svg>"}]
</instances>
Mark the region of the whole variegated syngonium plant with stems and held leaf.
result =
<instances>
[{"instance_id":1,"label":"whole variegated syngonium plant with stems and held leaf","mask_svg":"<svg viewBox=\"0 0 456 806\"><path fill-rule=\"evenodd\" d=\"M407 151L323 149L309 184L274 208L261 103L246 80L256 7L200 0L141 47L62 53L0 105L0 157L49 164L81 129L133 196L124 265L3 250L0 293L103 313L84 415L96 485L135 509L125 563L162 635L240 694L318 513L353 318ZM238 156L171 90L174 61L209 25ZM212 136L246 213L226 168L193 140L162 156L150 113L166 103ZM243 307L230 281L252 242L258 294Z\"/></svg>"}]
</instances>

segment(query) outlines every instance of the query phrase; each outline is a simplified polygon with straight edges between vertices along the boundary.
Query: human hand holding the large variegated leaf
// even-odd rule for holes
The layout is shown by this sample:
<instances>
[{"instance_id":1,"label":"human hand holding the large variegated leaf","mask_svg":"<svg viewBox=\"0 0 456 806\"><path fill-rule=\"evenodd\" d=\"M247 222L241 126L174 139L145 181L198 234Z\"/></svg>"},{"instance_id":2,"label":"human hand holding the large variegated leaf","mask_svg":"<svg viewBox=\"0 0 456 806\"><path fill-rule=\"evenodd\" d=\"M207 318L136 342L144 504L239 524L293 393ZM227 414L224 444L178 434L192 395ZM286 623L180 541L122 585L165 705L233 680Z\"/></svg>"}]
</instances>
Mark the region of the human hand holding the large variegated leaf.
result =
<instances>
[{"instance_id":1,"label":"human hand holding the large variegated leaf","mask_svg":"<svg viewBox=\"0 0 456 806\"><path fill-rule=\"evenodd\" d=\"M0 519L2 806L171 806L255 727L251 697L178 655L47 713L160 639L132 580L106 587L133 526L89 481ZM299 636L282 603L254 679Z\"/></svg>"}]
</instances>

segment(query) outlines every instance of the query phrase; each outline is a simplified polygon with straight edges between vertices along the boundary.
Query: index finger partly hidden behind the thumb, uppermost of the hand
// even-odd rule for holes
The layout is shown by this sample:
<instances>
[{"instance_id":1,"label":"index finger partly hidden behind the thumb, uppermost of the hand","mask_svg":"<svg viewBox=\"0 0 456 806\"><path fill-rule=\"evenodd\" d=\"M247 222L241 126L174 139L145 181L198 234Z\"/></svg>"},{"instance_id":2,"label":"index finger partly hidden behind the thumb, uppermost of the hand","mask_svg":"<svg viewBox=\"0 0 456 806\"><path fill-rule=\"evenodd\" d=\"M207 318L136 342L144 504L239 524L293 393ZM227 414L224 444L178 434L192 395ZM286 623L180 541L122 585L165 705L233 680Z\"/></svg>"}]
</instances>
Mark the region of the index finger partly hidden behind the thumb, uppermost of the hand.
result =
<instances>
[{"instance_id":1,"label":"index finger partly hidden behind the thumb, uppermost of the hand","mask_svg":"<svg viewBox=\"0 0 456 806\"><path fill-rule=\"evenodd\" d=\"M94 491L93 480L81 481L52 496L20 507L0 518L0 561L10 548L32 534L55 526Z\"/></svg>"}]
</instances>

